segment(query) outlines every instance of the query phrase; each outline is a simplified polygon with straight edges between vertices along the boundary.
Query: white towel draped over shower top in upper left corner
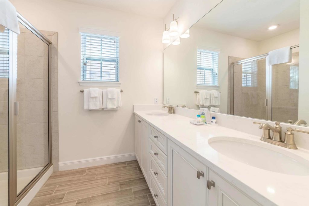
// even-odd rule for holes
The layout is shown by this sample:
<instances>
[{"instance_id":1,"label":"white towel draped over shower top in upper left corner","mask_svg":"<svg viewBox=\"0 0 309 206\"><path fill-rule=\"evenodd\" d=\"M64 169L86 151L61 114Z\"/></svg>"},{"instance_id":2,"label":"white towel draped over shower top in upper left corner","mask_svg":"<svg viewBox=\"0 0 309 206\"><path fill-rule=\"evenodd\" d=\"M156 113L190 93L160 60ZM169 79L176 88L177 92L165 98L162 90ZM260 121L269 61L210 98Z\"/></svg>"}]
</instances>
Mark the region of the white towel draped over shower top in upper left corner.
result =
<instances>
[{"instance_id":1,"label":"white towel draped over shower top in upper left corner","mask_svg":"<svg viewBox=\"0 0 309 206\"><path fill-rule=\"evenodd\" d=\"M0 0L0 32L3 32L5 27L19 34L15 7L8 0Z\"/></svg>"}]
</instances>

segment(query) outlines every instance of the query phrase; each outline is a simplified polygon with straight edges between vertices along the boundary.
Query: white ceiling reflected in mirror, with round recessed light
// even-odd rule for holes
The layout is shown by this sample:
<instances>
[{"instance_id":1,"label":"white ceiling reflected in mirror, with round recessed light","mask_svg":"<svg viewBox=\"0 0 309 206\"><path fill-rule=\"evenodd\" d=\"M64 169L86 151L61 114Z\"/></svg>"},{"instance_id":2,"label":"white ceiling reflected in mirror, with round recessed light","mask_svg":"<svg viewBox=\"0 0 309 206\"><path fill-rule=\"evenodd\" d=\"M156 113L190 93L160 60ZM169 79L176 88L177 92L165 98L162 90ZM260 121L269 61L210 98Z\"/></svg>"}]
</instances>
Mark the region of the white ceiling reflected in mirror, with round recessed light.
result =
<instances>
[{"instance_id":1,"label":"white ceiling reflected in mirror, with round recessed light","mask_svg":"<svg viewBox=\"0 0 309 206\"><path fill-rule=\"evenodd\" d=\"M262 41L299 28L299 0L224 0L194 26Z\"/></svg>"}]
</instances>

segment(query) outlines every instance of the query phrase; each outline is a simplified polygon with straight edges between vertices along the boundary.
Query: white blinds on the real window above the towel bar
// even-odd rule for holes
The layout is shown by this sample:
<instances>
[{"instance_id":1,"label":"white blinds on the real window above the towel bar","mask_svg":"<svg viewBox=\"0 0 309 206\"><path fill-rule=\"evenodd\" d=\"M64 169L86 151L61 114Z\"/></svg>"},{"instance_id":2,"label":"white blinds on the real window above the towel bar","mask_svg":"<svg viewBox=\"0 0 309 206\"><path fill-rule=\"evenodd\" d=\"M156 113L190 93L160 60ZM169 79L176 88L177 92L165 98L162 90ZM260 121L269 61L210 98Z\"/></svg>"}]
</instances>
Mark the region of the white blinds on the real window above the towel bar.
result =
<instances>
[{"instance_id":1,"label":"white blinds on the real window above the towel bar","mask_svg":"<svg viewBox=\"0 0 309 206\"><path fill-rule=\"evenodd\" d=\"M82 81L119 82L119 37L81 33Z\"/></svg>"}]
</instances>

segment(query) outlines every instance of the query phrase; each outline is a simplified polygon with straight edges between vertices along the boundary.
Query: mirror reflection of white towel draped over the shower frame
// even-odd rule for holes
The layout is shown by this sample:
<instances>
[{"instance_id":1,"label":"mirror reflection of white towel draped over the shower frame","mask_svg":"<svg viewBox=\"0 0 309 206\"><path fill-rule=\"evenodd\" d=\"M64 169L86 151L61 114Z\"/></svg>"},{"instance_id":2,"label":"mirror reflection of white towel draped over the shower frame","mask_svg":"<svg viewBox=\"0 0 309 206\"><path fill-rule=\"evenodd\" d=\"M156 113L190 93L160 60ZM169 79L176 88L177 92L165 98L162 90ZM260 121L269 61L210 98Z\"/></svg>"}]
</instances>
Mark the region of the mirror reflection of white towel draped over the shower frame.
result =
<instances>
[{"instance_id":1,"label":"mirror reflection of white towel draped over the shower frame","mask_svg":"<svg viewBox=\"0 0 309 206\"><path fill-rule=\"evenodd\" d=\"M290 46L279 48L268 53L268 65L287 63L292 60Z\"/></svg>"}]
</instances>

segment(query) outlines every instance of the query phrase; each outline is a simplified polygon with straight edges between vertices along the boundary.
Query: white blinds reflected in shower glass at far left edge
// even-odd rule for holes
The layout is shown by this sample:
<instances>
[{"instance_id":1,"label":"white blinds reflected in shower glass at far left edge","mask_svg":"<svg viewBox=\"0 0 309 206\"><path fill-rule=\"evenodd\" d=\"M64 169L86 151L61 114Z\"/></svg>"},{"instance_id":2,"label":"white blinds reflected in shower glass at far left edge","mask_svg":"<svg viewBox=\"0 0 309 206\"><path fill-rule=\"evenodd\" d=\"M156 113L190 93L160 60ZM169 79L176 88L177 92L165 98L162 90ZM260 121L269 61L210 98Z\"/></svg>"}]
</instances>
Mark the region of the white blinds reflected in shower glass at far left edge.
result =
<instances>
[{"instance_id":1,"label":"white blinds reflected in shower glass at far left edge","mask_svg":"<svg viewBox=\"0 0 309 206\"><path fill-rule=\"evenodd\" d=\"M0 78L9 78L9 30L0 32Z\"/></svg>"}]
</instances>

